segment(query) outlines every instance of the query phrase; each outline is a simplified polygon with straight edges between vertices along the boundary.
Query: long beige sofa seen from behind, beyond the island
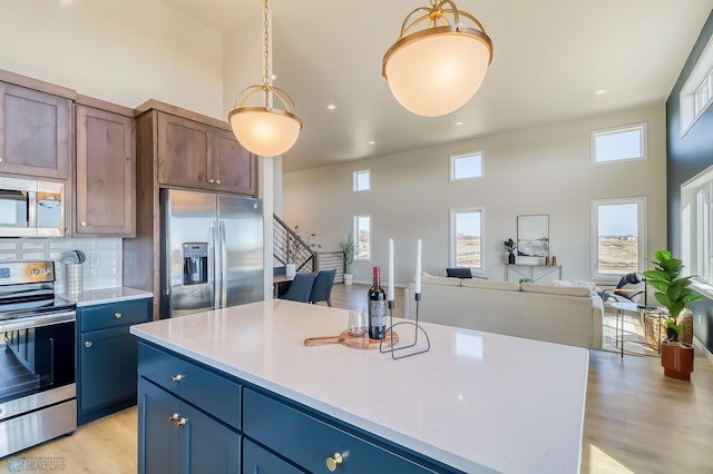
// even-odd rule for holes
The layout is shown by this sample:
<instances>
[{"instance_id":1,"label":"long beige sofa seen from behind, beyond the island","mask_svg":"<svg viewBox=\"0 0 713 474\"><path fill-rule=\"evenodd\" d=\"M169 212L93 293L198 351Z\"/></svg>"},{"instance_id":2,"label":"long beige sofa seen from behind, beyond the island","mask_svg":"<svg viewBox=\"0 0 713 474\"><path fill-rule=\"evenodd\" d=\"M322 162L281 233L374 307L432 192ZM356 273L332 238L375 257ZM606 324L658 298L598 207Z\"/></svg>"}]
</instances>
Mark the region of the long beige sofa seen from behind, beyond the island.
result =
<instances>
[{"instance_id":1,"label":"long beige sofa seen from behind, beyond the island","mask_svg":"<svg viewBox=\"0 0 713 474\"><path fill-rule=\"evenodd\" d=\"M404 289L416 317L414 284ZM602 298L585 287L424 276L419 320L572 346L602 348Z\"/></svg>"}]
</instances>

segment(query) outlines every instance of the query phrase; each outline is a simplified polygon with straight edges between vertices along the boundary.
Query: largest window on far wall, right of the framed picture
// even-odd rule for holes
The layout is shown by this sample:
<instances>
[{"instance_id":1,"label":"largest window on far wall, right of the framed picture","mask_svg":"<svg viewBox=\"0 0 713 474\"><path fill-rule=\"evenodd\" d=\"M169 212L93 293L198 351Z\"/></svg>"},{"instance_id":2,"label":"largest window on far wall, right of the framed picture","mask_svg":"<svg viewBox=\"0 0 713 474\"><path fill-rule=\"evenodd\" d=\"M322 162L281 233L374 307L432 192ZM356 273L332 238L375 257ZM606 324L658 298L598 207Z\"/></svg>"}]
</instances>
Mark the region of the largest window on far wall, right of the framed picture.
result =
<instances>
[{"instance_id":1,"label":"largest window on far wall, right of the framed picture","mask_svg":"<svg viewBox=\"0 0 713 474\"><path fill-rule=\"evenodd\" d=\"M646 258L646 198L592 203L593 276L614 280L643 271Z\"/></svg>"}]
</instances>

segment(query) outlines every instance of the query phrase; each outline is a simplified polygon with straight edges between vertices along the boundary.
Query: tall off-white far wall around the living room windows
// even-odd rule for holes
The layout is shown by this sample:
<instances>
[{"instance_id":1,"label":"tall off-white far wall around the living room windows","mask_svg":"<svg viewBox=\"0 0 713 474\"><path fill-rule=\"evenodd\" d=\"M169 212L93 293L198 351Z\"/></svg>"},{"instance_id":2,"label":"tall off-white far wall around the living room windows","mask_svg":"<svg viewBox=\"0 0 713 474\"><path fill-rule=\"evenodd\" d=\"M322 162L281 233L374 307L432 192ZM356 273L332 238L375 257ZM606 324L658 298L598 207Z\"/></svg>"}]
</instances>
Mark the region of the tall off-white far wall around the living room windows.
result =
<instances>
[{"instance_id":1,"label":"tall off-white far wall around the living room windows","mask_svg":"<svg viewBox=\"0 0 713 474\"><path fill-rule=\"evenodd\" d=\"M648 124L648 159L592 166L590 131ZM484 150L485 177L449 182L449 155ZM352 192L352 172L371 170L372 191ZM516 237L517 216L549 215L550 255L563 278L592 279L593 199L646 196L647 254L666 246L665 108L663 103L566 122L485 136L461 142L352 161L283 177L283 215L304 234L316 233L323 250L336 250L352 216L372 216L373 260L355 263L355 280L387 265L394 239L395 280L412 280L416 240L423 240L423 270L445 275L449 209L484 209L485 273L504 278L502 241Z\"/></svg>"}]
</instances>

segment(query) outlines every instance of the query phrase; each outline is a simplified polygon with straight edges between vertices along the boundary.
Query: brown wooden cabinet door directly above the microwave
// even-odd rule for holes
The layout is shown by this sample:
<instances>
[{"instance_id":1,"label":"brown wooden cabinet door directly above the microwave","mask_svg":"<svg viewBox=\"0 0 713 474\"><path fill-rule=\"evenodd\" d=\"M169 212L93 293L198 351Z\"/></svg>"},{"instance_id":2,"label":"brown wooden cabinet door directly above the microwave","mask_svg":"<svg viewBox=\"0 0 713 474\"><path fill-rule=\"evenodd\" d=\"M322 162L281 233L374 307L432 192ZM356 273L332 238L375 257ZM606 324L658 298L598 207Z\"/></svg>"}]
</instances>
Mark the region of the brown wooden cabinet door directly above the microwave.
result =
<instances>
[{"instance_id":1,"label":"brown wooden cabinet door directly above the microwave","mask_svg":"<svg viewBox=\"0 0 713 474\"><path fill-rule=\"evenodd\" d=\"M71 101L0 82L0 172L69 178Z\"/></svg>"}]
</instances>

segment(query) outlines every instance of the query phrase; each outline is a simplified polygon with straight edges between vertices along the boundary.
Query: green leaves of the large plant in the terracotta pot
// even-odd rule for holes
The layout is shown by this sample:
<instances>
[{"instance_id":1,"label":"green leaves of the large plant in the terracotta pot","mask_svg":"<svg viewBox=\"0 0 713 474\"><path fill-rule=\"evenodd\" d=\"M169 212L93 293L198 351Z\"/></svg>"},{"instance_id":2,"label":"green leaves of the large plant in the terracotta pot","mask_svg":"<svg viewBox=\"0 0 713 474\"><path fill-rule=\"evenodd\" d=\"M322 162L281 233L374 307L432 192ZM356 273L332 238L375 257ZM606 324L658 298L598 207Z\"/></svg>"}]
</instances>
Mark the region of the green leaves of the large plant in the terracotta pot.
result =
<instances>
[{"instance_id":1,"label":"green leaves of the large plant in the terracotta pot","mask_svg":"<svg viewBox=\"0 0 713 474\"><path fill-rule=\"evenodd\" d=\"M676 318L688 303L702 299L688 288L691 276L681 277L683 263L673 258L671 251L662 249L654 254L655 269L644 271L646 282L656 289L654 297L663 307L668 309L668 317L663 323L666 328L666 337L670 342L678 340L678 334L683 330L676 324Z\"/></svg>"}]
</instances>

